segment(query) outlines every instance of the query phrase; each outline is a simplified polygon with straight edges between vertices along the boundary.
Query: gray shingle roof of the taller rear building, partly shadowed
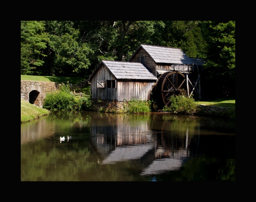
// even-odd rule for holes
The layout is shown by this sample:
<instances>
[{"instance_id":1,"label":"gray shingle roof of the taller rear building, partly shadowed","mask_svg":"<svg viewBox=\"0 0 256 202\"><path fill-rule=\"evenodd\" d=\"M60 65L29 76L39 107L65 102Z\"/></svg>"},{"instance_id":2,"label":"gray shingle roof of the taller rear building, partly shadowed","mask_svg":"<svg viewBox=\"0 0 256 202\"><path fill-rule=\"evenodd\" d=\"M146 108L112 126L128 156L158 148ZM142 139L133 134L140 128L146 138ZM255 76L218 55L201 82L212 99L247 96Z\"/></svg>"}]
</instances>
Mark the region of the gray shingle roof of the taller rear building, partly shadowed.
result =
<instances>
[{"instance_id":1,"label":"gray shingle roof of the taller rear building, partly shadowed","mask_svg":"<svg viewBox=\"0 0 256 202\"><path fill-rule=\"evenodd\" d=\"M189 58L179 48L170 48L155 45L140 45L156 63L172 63L172 64L192 64L193 60ZM137 49L138 50L138 49Z\"/></svg>"}]
</instances>

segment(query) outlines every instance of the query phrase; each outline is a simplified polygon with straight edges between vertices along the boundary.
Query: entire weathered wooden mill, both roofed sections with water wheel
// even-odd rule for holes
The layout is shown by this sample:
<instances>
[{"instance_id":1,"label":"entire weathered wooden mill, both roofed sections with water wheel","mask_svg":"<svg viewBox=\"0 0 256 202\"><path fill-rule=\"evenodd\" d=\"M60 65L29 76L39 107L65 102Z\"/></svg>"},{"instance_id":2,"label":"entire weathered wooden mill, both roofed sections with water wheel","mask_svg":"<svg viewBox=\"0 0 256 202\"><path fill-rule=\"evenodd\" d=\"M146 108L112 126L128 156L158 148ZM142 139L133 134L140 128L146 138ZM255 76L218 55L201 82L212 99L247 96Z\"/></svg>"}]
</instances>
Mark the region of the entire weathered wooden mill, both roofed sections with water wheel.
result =
<instances>
[{"instance_id":1,"label":"entire weathered wooden mill, both roofed sections with water wheel","mask_svg":"<svg viewBox=\"0 0 256 202\"><path fill-rule=\"evenodd\" d=\"M90 75L93 99L156 100L168 105L168 97L196 92L201 98L203 59L190 58L179 48L141 44L128 62L102 60Z\"/></svg>"}]
</instances>

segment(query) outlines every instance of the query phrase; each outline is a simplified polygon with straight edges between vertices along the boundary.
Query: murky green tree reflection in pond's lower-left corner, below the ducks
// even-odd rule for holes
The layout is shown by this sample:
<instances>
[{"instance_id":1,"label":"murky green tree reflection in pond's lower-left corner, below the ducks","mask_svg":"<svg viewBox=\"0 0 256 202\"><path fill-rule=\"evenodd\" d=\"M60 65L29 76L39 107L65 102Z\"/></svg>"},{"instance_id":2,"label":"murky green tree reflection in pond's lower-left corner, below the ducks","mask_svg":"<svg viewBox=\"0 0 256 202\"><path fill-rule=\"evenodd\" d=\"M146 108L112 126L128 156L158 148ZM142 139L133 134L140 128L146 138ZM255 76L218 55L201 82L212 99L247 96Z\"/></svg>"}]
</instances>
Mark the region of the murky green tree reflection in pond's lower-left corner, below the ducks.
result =
<instances>
[{"instance_id":1,"label":"murky green tree reflection in pond's lower-left corner, below the ducks","mask_svg":"<svg viewBox=\"0 0 256 202\"><path fill-rule=\"evenodd\" d=\"M85 173L94 165L88 161L90 151L83 143L73 142L72 146L74 147L73 150L68 147L54 147L53 149L53 145L49 147L49 141L37 141L35 144L21 145L21 181L86 180ZM72 166L67 169L63 165Z\"/></svg>"}]
</instances>

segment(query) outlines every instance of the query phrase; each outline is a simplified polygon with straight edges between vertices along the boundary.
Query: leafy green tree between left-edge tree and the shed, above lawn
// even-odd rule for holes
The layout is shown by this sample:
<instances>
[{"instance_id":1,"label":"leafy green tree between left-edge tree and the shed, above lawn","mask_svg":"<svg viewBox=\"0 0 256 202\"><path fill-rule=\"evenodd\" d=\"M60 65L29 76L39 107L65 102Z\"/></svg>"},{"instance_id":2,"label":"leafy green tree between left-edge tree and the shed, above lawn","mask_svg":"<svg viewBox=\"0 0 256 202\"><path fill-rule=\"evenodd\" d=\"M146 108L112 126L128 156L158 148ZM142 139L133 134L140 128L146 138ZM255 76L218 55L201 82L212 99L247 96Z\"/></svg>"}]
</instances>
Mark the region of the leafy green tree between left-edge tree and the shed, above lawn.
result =
<instances>
[{"instance_id":1,"label":"leafy green tree between left-edge tree and the shed, above lawn","mask_svg":"<svg viewBox=\"0 0 256 202\"><path fill-rule=\"evenodd\" d=\"M48 73L56 76L85 76L91 65L88 55L93 50L81 40L80 31L72 21L45 21L49 33Z\"/></svg>"}]
</instances>

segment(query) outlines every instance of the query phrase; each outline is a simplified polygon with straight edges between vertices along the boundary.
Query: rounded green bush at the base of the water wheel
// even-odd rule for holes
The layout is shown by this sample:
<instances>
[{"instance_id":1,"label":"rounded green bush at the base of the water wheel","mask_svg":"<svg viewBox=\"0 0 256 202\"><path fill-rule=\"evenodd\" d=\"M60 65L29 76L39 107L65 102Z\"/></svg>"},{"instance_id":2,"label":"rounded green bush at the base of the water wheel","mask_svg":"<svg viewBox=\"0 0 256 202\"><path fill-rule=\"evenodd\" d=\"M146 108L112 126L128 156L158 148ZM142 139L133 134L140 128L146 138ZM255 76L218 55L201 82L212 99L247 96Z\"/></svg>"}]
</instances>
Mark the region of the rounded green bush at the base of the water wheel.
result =
<instances>
[{"instance_id":1,"label":"rounded green bush at the base of the water wheel","mask_svg":"<svg viewBox=\"0 0 256 202\"><path fill-rule=\"evenodd\" d=\"M170 107L164 106L164 112L191 115L196 113L197 104L193 99L193 94L190 97L187 97L185 94L172 95L168 99L170 100Z\"/></svg>"}]
</instances>

